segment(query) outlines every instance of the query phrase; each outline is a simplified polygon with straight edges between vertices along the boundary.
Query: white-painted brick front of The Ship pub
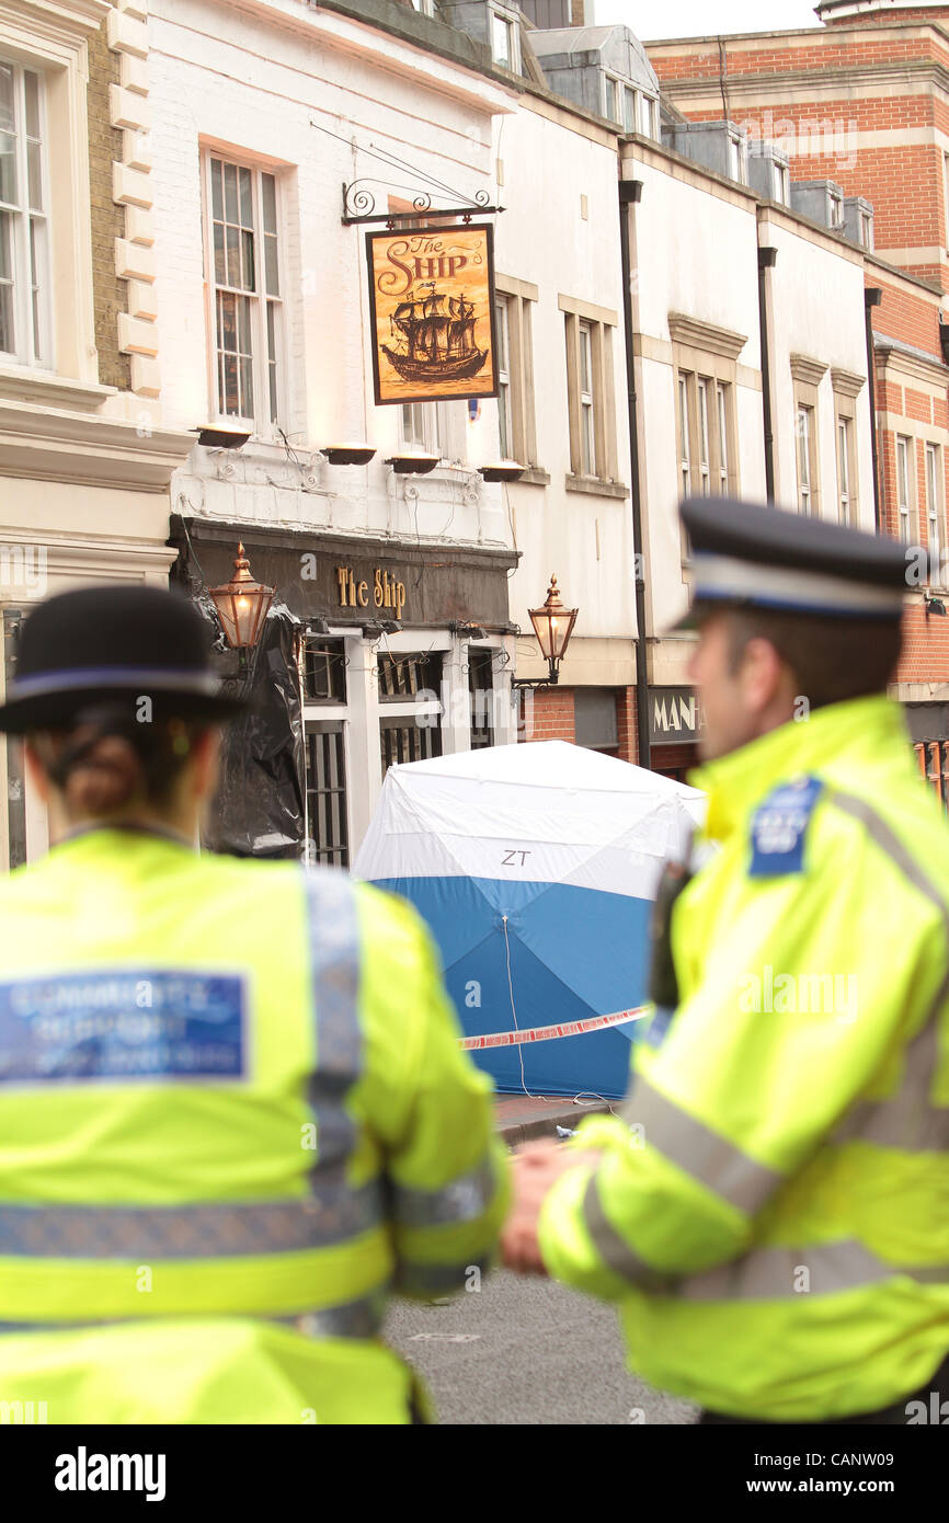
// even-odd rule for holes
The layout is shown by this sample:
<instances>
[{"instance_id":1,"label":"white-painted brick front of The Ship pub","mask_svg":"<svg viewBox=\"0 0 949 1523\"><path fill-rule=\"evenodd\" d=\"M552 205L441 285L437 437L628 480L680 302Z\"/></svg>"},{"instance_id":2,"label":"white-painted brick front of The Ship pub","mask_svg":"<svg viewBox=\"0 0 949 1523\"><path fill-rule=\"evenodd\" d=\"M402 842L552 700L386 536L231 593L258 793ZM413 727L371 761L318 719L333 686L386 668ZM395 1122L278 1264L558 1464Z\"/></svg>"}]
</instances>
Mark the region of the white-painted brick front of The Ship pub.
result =
<instances>
[{"instance_id":1,"label":"white-painted brick front of The Ship pub","mask_svg":"<svg viewBox=\"0 0 949 1523\"><path fill-rule=\"evenodd\" d=\"M346 862L387 760L472 743L475 664L492 688L480 739L513 739L506 589L515 557L503 489L477 469L497 460L497 404L483 402L478 417L465 401L373 405L364 227L343 225L341 186L358 181L375 207L359 200L353 210L382 215L411 210L433 183L457 192L434 206L481 190L494 203L492 117L515 96L391 30L300 0L152 0L149 37L163 417L251 434L239 449L195 448L174 477L172 510L204 585L225 579L242 538L257 576L276 567L267 579L277 602L303 631L320 624L317 649L332 652L341 684L305 687L305 803L315 854ZM215 270L215 238L256 259L253 292L228 294L250 282L241 267L235 285L227 247L224 277ZM222 352L215 302L247 320L236 364ZM320 452L352 442L375 448L367 466L331 465ZM385 465L419 446L442 457L431 474ZM335 603L324 576L308 585L302 567L312 554L334 570L364 568L355 585L370 591L382 570L407 589L404 606L370 605L359 621L358 606L340 608L332 576ZM490 580L490 606L471 576ZM440 586L440 612L422 609L430 583ZM381 615L401 627L375 627ZM317 772L324 793L344 777L332 839L315 829Z\"/></svg>"}]
</instances>

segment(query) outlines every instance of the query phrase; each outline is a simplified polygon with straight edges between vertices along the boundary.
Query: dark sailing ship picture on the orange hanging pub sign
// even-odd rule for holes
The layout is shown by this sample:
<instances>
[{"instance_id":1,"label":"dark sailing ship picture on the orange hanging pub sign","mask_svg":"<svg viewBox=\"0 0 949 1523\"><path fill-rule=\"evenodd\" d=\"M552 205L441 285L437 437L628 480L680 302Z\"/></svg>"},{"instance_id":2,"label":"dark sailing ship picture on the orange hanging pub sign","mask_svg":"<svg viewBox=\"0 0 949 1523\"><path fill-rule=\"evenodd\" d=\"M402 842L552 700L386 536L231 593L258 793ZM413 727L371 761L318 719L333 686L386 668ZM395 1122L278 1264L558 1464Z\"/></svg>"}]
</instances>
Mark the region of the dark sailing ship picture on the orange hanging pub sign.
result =
<instances>
[{"instance_id":1,"label":"dark sailing ship picture on the orange hanging pub sign","mask_svg":"<svg viewBox=\"0 0 949 1523\"><path fill-rule=\"evenodd\" d=\"M381 344L385 358L405 381L443 382L475 376L489 350L478 349L475 343L474 302L466 302L463 292L445 297L434 280L417 286L417 292L399 302L388 318L398 347Z\"/></svg>"}]
</instances>

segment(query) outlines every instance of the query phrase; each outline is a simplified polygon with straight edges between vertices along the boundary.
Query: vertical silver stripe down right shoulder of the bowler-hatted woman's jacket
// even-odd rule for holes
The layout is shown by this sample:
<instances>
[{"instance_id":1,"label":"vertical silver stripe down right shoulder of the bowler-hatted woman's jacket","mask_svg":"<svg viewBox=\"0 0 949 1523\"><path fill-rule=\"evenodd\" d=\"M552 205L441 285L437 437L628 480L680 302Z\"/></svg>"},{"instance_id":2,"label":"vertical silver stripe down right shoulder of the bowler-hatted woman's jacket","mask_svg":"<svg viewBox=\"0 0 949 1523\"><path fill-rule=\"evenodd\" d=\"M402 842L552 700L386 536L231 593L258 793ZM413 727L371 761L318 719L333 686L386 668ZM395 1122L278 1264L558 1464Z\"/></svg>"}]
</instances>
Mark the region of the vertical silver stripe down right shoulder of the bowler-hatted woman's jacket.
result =
<instances>
[{"instance_id":1,"label":"vertical silver stripe down right shoulder of the bowler-hatted woman's jacket","mask_svg":"<svg viewBox=\"0 0 949 1523\"><path fill-rule=\"evenodd\" d=\"M344 1109L363 1069L359 1023L359 926L352 883L329 868L305 873L315 1019L315 1068L309 1104L317 1121L314 1188L324 1167L341 1164L356 1144Z\"/></svg>"}]
</instances>

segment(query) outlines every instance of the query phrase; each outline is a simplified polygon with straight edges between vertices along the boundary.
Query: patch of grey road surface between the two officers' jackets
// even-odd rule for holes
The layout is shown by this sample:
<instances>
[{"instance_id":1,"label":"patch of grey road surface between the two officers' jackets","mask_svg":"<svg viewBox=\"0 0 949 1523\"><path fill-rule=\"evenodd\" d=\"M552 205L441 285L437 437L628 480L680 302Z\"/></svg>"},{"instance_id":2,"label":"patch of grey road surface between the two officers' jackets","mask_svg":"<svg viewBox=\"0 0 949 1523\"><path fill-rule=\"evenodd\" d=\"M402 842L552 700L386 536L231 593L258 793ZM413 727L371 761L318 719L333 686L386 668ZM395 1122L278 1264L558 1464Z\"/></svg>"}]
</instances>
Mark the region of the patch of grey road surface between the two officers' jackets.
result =
<instances>
[{"instance_id":1,"label":"patch of grey road surface between the two officers' jackets","mask_svg":"<svg viewBox=\"0 0 949 1523\"><path fill-rule=\"evenodd\" d=\"M500 1270L446 1305L398 1301L385 1339L462 1424L687 1424L698 1409L634 1380L615 1311Z\"/></svg>"}]
</instances>

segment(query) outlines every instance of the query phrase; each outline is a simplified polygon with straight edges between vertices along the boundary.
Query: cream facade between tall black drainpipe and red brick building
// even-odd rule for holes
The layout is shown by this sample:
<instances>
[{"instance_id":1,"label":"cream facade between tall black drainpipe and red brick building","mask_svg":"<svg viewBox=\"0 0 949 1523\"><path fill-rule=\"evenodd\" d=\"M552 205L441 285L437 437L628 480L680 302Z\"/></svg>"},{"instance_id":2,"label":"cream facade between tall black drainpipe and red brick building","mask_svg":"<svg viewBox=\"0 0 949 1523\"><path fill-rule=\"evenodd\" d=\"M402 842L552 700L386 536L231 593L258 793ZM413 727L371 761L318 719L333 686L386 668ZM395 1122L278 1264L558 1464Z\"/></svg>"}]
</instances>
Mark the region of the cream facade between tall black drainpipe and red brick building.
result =
<instances>
[{"instance_id":1,"label":"cream facade between tall black drainpipe and red brick building","mask_svg":"<svg viewBox=\"0 0 949 1523\"><path fill-rule=\"evenodd\" d=\"M874 527L864 254L652 145L628 143L621 174L641 184L629 218L652 765L681 772L696 760L695 728L664 716L687 702L695 637L672 629L692 577L676 504L766 500L760 294L774 501Z\"/></svg>"}]
</instances>

